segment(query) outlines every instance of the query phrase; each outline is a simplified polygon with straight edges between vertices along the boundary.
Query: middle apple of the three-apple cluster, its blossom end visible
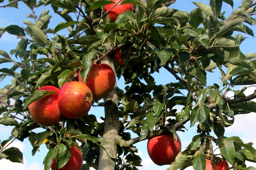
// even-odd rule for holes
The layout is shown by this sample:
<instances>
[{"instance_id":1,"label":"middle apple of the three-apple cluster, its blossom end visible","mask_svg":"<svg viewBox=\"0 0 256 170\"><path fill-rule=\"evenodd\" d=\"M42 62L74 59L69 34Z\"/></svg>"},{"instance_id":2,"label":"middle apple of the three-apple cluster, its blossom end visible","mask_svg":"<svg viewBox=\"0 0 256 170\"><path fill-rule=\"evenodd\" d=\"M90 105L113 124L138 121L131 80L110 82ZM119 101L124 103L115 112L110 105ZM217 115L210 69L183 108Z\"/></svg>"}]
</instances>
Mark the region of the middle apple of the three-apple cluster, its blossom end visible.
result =
<instances>
[{"instance_id":1,"label":"middle apple of the three-apple cluster, its blossom end visible","mask_svg":"<svg viewBox=\"0 0 256 170\"><path fill-rule=\"evenodd\" d=\"M79 119L88 114L92 100L89 87L79 81L70 81L59 91L59 110L67 118Z\"/></svg>"}]
</instances>

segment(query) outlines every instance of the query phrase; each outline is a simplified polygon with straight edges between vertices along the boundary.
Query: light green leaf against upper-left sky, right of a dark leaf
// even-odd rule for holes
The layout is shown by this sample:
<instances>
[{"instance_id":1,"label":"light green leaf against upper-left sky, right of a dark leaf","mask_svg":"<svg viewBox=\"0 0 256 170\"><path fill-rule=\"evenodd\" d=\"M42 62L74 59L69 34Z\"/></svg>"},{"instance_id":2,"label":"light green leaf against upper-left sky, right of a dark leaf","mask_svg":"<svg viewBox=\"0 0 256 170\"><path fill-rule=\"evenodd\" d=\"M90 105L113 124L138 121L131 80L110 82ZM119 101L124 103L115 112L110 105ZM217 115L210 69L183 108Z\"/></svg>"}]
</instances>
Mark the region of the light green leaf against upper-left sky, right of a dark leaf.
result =
<instances>
[{"instance_id":1,"label":"light green leaf against upper-left sky, right of a dark leaf","mask_svg":"<svg viewBox=\"0 0 256 170\"><path fill-rule=\"evenodd\" d=\"M44 32L37 28L36 26L28 25L28 30L30 32L30 36L33 41L42 44L47 45L47 36L44 34Z\"/></svg>"}]
</instances>

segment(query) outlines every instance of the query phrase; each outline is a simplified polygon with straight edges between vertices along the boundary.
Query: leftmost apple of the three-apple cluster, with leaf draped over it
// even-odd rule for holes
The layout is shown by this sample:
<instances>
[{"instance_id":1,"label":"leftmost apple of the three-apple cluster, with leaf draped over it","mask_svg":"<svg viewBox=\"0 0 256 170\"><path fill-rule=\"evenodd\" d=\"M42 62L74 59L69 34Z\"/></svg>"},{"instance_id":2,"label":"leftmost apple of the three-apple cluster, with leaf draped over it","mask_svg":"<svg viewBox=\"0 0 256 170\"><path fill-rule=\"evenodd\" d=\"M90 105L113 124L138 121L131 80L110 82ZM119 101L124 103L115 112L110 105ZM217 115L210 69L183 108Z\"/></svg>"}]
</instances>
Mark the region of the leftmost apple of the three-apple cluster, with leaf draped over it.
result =
<instances>
[{"instance_id":1,"label":"leftmost apple of the three-apple cluster, with leaf draped over it","mask_svg":"<svg viewBox=\"0 0 256 170\"><path fill-rule=\"evenodd\" d=\"M55 91L56 94L45 96L28 106L31 117L38 124L43 126L53 126L59 123L62 119L62 114L59 111L57 97L59 89L54 86L43 86L37 90Z\"/></svg>"}]
</instances>

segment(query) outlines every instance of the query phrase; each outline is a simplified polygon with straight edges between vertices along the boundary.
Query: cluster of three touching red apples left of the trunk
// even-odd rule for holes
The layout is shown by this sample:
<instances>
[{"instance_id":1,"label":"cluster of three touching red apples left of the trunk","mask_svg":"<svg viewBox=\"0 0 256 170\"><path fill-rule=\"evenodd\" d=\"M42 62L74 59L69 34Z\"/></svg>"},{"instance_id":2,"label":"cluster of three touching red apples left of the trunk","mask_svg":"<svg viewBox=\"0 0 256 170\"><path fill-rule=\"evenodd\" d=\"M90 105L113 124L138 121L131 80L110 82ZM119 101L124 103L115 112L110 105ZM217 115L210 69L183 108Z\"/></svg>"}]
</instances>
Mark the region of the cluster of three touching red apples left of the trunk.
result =
<instances>
[{"instance_id":1,"label":"cluster of three touching red apples left of the trunk","mask_svg":"<svg viewBox=\"0 0 256 170\"><path fill-rule=\"evenodd\" d=\"M100 100L113 90L116 75L107 64L93 64L82 83L80 71L79 81L70 81L59 90L55 86L43 86L38 90L55 91L28 106L31 117L38 124L53 126L59 123L63 115L70 119L79 119L88 114L93 99Z\"/></svg>"}]
</instances>

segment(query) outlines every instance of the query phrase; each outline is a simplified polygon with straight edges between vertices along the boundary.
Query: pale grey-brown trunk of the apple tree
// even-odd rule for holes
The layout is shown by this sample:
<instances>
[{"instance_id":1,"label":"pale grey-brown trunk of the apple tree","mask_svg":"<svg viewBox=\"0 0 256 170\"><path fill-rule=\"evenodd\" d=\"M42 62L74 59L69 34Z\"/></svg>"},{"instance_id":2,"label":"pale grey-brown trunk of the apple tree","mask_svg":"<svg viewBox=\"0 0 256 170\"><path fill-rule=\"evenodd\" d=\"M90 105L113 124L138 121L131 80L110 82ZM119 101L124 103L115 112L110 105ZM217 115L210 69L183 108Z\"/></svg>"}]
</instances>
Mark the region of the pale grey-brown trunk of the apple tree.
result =
<instances>
[{"instance_id":1,"label":"pale grey-brown trunk of the apple tree","mask_svg":"<svg viewBox=\"0 0 256 170\"><path fill-rule=\"evenodd\" d=\"M106 63L110 65L114 72L113 60L107 57L101 61L101 63ZM118 95L117 95L117 85L114 89L105 96L105 120L104 120L104 132L103 138L108 141L108 144L102 144L106 149L104 151L100 148L100 160L98 170L114 170L116 165L117 157L117 145L115 139L119 134L120 122L118 116Z\"/></svg>"}]
</instances>

